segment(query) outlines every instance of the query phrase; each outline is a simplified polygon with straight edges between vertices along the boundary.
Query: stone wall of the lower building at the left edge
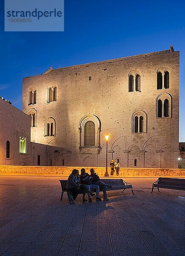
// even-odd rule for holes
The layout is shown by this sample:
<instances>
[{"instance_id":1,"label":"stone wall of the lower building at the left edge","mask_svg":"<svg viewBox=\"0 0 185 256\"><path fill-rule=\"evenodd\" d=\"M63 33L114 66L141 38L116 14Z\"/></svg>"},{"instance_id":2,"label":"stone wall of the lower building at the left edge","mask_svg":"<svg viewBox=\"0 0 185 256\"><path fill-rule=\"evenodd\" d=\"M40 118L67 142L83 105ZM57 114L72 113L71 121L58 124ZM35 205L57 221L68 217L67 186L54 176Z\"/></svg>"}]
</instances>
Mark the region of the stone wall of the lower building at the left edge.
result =
<instances>
[{"instance_id":1,"label":"stone wall of the lower building at the left edge","mask_svg":"<svg viewBox=\"0 0 185 256\"><path fill-rule=\"evenodd\" d=\"M0 120L0 165L30 164L30 117L0 98ZM19 137L26 138L26 154L20 154ZM6 158L7 140L10 142L9 158Z\"/></svg>"}]
</instances>

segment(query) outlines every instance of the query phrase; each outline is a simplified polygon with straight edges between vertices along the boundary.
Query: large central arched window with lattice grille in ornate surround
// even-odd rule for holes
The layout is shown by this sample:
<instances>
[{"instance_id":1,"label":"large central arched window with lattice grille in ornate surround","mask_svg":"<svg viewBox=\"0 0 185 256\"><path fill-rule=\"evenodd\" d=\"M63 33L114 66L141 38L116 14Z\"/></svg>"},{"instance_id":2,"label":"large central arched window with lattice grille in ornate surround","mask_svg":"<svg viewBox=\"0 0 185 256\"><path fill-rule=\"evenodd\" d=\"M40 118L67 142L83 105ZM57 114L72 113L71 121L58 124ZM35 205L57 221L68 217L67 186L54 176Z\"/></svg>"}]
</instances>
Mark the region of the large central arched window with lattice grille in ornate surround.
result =
<instances>
[{"instance_id":1,"label":"large central arched window with lattice grille in ornate surround","mask_svg":"<svg viewBox=\"0 0 185 256\"><path fill-rule=\"evenodd\" d=\"M94 122L88 121L85 123L85 147L95 145L95 125Z\"/></svg>"}]
</instances>

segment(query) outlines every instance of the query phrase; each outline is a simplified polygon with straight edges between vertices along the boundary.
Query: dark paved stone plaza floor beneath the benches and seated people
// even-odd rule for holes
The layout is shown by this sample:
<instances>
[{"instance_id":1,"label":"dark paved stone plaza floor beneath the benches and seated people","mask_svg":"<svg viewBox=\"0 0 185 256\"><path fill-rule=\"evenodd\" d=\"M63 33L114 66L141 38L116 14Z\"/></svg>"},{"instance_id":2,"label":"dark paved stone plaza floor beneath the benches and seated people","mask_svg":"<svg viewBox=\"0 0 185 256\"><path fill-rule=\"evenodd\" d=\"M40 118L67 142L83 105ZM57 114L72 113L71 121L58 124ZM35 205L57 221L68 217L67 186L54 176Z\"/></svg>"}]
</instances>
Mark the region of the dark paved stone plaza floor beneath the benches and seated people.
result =
<instances>
[{"instance_id":1,"label":"dark paved stone plaza floor beneath the benches and seated people","mask_svg":"<svg viewBox=\"0 0 185 256\"><path fill-rule=\"evenodd\" d=\"M185 192L151 194L157 177L125 178L135 195L69 204L58 180L0 176L0 256L185 255Z\"/></svg>"}]
</instances>

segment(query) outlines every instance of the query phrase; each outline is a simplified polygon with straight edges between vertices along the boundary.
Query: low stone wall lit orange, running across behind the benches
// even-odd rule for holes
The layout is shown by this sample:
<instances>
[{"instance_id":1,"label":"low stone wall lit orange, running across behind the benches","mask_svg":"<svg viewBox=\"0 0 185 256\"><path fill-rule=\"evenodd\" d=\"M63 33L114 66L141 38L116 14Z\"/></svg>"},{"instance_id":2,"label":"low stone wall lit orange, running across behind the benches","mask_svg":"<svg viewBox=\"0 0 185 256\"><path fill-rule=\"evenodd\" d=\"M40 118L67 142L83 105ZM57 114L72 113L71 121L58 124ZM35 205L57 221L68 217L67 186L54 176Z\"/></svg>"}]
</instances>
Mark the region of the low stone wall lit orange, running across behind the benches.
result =
<instances>
[{"instance_id":1,"label":"low stone wall lit orange, running across behind the benches","mask_svg":"<svg viewBox=\"0 0 185 256\"><path fill-rule=\"evenodd\" d=\"M73 166L0 166L0 175L48 175L68 176L72 169L80 170L83 167ZM85 167L90 173L91 167ZM100 177L105 174L105 167L94 167ZM109 177L110 168L108 168ZM116 172L114 172L116 176ZM113 177L114 177L113 176ZM159 169L159 168L120 168L120 177L185 177L185 169Z\"/></svg>"}]
</instances>

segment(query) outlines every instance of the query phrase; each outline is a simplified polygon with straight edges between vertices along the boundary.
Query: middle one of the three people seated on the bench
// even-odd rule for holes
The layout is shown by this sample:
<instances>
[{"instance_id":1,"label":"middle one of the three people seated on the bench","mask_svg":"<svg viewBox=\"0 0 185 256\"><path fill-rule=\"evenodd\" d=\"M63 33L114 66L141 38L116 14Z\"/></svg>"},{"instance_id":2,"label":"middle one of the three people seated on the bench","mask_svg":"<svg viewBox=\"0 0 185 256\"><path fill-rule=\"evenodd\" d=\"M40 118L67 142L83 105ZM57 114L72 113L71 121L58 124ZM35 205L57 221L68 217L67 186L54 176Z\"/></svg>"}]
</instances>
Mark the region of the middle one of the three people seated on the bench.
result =
<instances>
[{"instance_id":1,"label":"middle one of the three people seated on the bench","mask_svg":"<svg viewBox=\"0 0 185 256\"><path fill-rule=\"evenodd\" d=\"M96 200L102 201L100 198L100 187L98 185L92 184L91 179L89 179L90 175L88 173L85 173L85 169L81 169L81 175L80 175L80 183L85 184L89 190L95 189L96 190ZM88 198L89 202L92 202L91 197Z\"/></svg>"}]
</instances>

